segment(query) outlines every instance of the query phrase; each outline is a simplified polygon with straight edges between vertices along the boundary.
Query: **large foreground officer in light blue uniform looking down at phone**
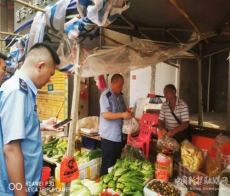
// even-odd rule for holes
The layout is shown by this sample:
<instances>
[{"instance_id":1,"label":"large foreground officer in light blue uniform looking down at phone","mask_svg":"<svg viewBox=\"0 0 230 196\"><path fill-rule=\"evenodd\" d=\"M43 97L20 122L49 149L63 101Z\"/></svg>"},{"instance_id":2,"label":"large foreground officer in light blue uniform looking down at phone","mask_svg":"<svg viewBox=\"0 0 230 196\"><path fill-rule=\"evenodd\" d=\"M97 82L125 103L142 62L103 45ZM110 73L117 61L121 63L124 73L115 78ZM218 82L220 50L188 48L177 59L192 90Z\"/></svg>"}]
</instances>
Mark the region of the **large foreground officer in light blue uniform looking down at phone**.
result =
<instances>
[{"instance_id":1,"label":"large foreground officer in light blue uniform looking down at phone","mask_svg":"<svg viewBox=\"0 0 230 196\"><path fill-rule=\"evenodd\" d=\"M0 195L38 195L43 167L38 89L50 81L60 63L54 49L35 44L22 68L0 89ZM53 120L49 120L49 127Z\"/></svg>"}]
</instances>

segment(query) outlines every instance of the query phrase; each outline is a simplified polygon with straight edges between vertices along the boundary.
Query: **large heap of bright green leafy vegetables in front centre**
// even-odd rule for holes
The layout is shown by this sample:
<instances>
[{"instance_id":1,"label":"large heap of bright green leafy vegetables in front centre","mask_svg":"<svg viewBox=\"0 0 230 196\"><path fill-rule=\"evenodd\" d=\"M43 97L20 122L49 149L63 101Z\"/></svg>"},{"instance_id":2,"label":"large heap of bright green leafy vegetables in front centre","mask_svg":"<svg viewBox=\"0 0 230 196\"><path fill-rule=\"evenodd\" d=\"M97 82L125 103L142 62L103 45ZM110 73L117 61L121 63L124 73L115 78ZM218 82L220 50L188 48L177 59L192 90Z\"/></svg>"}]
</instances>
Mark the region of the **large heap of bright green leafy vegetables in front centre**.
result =
<instances>
[{"instance_id":1,"label":"large heap of bright green leafy vegetables in front centre","mask_svg":"<svg viewBox=\"0 0 230 196\"><path fill-rule=\"evenodd\" d=\"M101 177L103 188L111 188L122 195L143 196L144 181L154 175L149 161L134 158L118 159L113 170Z\"/></svg>"}]
</instances>

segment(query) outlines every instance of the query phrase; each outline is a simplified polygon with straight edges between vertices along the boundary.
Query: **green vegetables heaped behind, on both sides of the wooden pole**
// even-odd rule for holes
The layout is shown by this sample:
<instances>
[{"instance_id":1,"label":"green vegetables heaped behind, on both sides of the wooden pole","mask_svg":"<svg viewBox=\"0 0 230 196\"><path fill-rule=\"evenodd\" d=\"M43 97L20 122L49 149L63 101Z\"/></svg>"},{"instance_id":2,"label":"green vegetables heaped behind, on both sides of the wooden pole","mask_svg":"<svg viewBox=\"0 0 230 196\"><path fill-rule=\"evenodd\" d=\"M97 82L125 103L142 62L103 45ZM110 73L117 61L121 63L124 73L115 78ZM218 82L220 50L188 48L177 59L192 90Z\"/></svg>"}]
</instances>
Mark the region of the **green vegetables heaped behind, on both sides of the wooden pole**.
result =
<instances>
[{"instance_id":1,"label":"green vegetables heaped behind, on both sides of the wooden pole","mask_svg":"<svg viewBox=\"0 0 230 196\"><path fill-rule=\"evenodd\" d=\"M52 158L55 162L61 163L63 155L66 153L68 145L68 139L55 139L47 144L43 145L43 154ZM93 159L101 157L101 150L77 151L74 153L74 157L77 160L78 165L87 163Z\"/></svg>"}]
</instances>

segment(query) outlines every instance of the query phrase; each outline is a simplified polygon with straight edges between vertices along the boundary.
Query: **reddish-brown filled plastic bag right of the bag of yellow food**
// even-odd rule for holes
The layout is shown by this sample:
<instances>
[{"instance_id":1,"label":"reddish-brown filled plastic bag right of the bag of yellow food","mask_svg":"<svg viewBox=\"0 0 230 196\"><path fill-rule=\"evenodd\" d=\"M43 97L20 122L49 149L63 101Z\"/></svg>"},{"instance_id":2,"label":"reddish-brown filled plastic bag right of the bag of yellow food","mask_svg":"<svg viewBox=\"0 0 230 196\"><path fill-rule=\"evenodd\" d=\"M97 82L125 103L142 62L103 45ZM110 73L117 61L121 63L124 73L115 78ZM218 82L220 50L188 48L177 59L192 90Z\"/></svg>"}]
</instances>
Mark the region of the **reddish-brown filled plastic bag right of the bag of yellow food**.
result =
<instances>
[{"instance_id":1,"label":"reddish-brown filled plastic bag right of the bag of yellow food","mask_svg":"<svg viewBox=\"0 0 230 196\"><path fill-rule=\"evenodd\" d=\"M221 170L220 148L215 142L211 149L208 150L204 160L202 171L209 177L216 177Z\"/></svg>"}]
</instances>

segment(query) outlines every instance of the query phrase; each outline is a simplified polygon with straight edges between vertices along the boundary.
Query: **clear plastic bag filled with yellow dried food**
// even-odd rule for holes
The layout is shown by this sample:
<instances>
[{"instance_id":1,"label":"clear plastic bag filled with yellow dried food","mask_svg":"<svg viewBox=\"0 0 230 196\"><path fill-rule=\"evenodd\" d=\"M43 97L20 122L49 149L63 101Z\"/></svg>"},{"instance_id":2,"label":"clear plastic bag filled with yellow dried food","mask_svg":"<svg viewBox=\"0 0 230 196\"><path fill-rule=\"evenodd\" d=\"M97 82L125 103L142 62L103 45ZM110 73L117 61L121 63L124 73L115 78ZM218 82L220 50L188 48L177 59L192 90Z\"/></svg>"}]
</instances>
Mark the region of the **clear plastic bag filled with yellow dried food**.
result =
<instances>
[{"instance_id":1,"label":"clear plastic bag filled with yellow dried food","mask_svg":"<svg viewBox=\"0 0 230 196\"><path fill-rule=\"evenodd\" d=\"M196 172L201 169L204 162L204 154L201 149L191 144L188 140L181 143L182 164L190 172Z\"/></svg>"}]
</instances>

